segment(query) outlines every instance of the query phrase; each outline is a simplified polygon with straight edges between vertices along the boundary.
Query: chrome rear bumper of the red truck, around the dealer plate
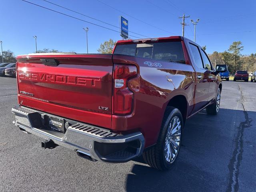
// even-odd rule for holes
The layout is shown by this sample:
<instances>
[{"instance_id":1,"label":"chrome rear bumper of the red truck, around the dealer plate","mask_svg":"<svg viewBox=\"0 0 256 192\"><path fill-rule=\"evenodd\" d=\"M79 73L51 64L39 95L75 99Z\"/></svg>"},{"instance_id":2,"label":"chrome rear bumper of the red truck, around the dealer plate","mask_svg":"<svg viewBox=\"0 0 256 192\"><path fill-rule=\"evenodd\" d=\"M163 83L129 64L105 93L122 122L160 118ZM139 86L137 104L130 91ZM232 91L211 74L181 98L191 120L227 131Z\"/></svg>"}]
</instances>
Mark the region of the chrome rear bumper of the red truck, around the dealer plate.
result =
<instances>
[{"instance_id":1,"label":"chrome rear bumper of the red truck, around the dealer plate","mask_svg":"<svg viewBox=\"0 0 256 192\"><path fill-rule=\"evenodd\" d=\"M47 118L53 116L24 106L12 108L14 124L28 134L35 134L55 144L74 150L90 160L127 162L140 156L144 150L144 136L140 132L121 135L103 128L76 122L66 118L66 132L58 132L47 126ZM54 116L56 118L61 118Z\"/></svg>"}]
</instances>

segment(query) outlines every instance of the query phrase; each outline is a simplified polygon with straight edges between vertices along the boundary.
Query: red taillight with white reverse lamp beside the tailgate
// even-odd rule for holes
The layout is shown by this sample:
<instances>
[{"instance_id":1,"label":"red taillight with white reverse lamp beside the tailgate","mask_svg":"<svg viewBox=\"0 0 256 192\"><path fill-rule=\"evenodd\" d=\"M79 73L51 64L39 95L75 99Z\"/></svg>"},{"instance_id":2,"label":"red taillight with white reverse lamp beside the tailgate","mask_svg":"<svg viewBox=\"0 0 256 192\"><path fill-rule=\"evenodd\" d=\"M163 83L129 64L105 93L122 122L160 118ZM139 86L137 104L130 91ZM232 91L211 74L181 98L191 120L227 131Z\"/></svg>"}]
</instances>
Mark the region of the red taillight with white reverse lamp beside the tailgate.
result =
<instances>
[{"instance_id":1,"label":"red taillight with white reverse lamp beside the tailgate","mask_svg":"<svg viewBox=\"0 0 256 192\"><path fill-rule=\"evenodd\" d=\"M132 112L133 92L128 88L128 81L136 75L136 66L114 65L113 114L124 115Z\"/></svg>"}]
</instances>

